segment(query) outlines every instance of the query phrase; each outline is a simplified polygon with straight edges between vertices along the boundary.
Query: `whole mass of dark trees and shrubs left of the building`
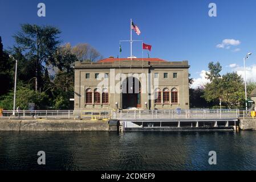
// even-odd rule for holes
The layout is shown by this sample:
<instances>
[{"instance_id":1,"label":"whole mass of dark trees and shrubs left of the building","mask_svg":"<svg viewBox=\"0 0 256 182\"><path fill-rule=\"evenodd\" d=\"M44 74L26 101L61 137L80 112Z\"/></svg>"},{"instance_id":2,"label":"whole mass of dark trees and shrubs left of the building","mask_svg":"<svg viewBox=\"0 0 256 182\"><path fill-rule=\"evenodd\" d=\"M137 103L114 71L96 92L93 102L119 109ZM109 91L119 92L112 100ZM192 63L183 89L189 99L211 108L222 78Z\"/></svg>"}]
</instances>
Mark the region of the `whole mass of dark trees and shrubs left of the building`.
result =
<instances>
[{"instance_id":1,"label":"whole mass of dark trees and shrubs left of the building","mask_svg":"<svg viewBox=\"0 0 256 182\"><path fill-rule=\"evenodd\" d=\"M34 102L36 109L74 109L70 98L74 98L75 53L82 51L78 56L90 61L99 59L100 53L89 44L59 46L59 34L55 27L22 24L8 52L0 37L0 107L13 109L15 60L11 54L18 60L17 106L28 109L28 103Z\"/></svg>"}]
</instances>

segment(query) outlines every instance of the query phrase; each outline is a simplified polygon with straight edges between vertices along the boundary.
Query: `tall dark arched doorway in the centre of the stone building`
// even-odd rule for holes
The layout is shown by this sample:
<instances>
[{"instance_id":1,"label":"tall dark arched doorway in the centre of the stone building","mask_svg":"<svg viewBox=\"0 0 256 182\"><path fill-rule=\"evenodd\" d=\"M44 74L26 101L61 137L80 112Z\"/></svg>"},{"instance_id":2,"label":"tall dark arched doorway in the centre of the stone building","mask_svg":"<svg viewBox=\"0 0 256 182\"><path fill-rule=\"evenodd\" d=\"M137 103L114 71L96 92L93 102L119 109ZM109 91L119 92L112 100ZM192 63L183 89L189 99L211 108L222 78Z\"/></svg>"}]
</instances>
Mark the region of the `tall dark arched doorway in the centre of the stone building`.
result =
<instances>
[{"instance_id":1,"label":"tall dark arched doorway in the centre of the stone building","mask_svg":"<svg viewBox=\"0 0 256 182\"><path fill-rule=\"evenodd\" d=\"M122 108L141 107L141 84L135 77L128 77L122 83Z\"/></svg>"}]
</instances>

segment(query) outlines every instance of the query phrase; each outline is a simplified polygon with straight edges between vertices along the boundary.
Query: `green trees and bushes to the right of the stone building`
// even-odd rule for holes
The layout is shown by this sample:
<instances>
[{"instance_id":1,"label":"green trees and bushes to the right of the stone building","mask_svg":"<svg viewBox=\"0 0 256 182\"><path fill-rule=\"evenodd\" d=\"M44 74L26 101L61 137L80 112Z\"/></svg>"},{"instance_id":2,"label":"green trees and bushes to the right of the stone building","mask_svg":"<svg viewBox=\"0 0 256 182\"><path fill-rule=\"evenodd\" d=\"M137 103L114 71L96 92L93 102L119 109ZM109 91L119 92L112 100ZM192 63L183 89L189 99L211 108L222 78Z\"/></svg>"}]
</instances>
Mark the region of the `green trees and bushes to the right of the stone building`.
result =
<instances>
[{"instance_id":1,"label":"green trees and bushes to the right of the stone building","mask_svg":"<svg viewBox=\"0 0 256 182\"><path fill-rule=\"evenodd\" d=\"M190 107L220 108L245 108L245 88L241 76L237 73L220 75L222 67L220 63L209 63L209 73L206 77L211 81L204 88L190 89ZM247 84L247 96L256 88L255 82ZM250 97L249 97L250 98Z\"/></svg>"}]
</instances>

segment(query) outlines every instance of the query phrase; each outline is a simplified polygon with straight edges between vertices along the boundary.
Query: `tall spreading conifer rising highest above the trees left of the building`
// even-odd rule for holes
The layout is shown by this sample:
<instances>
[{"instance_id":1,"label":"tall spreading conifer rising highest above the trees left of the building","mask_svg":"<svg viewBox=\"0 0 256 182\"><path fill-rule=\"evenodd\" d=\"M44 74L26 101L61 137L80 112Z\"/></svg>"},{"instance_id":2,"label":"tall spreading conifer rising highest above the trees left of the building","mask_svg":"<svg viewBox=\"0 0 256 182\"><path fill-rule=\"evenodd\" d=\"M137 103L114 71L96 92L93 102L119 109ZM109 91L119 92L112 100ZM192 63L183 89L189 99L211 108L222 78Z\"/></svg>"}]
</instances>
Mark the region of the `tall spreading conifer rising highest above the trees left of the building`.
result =
<instances>
[{"instance_id":1,"label":"tall spreading conifer rising highest above the trees left of the building","mask_svg":"<svg viewBox=\"0 0 256 182\"><path fill-rule=\"evenodd\" d=\"M21 31L14 35L18 48L34 63L35 90L42 86L44 65L55 65L53 55L60 44L59 34L60 30L56 27L22 24Z\"/></svg>"}]
</instances>

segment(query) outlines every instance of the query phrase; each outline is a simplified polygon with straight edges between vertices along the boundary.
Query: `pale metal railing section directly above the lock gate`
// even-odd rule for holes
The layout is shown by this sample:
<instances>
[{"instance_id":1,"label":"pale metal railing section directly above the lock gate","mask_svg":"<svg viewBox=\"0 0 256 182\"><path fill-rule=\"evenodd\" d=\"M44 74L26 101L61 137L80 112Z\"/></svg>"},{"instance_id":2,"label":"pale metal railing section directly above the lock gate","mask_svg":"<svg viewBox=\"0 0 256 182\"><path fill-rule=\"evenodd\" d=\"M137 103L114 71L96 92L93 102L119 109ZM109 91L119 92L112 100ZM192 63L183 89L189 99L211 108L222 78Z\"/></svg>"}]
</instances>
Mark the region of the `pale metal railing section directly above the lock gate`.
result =
<instances>
[{"instance_id":1,"label":"pale metal railing section directly above the lock gate","mask_svg":"<svg viewBox=\"0 0 256 182\"><path fill-rule=\"evenodd\" d=\"M237 119L237 109L117 110L114 119Z\"/></svg>"}]
</instances>

